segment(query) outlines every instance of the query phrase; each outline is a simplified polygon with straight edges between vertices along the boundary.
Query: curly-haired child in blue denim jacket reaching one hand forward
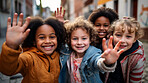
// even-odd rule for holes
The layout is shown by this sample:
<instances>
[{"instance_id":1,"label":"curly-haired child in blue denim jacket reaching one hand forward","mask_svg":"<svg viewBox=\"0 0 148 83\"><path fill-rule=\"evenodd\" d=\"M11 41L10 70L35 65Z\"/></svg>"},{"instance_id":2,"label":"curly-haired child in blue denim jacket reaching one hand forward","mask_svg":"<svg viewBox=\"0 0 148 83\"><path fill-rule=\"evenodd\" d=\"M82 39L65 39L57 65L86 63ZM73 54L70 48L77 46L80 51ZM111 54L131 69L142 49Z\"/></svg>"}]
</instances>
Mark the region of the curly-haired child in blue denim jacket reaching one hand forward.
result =
<instances>
[{"instance_id":1,"label":"curly-haired child in blue denim jacket reaching one hand forward","mask_svg":"<svg viewBox=\"0 0 148 83\"><path fill-rule=\"evenodd\" d=\"M120 50L117 53L120 43L114 50L109 46L109 49L101 55L100 49L91 46L96 38L96 32L91 23L78 17L74 22L66 23L65 27L67 44L71 52L60 55L62 69L59 83L101 83L99 71L114 71L115 62L123 51ZM111 43L110 40L109 45L112 45Z\"/></svg>"}]
</instances>

